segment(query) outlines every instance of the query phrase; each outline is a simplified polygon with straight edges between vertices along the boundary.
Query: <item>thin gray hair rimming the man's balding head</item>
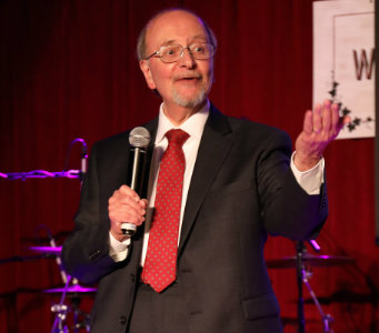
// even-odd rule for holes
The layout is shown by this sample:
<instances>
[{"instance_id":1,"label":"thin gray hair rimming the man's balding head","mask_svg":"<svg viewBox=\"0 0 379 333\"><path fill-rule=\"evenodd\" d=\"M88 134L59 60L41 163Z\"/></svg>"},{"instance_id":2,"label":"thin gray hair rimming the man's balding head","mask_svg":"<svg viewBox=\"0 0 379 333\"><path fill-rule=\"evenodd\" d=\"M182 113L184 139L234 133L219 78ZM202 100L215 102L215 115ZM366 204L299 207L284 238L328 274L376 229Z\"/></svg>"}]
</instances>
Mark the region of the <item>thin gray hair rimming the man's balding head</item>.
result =
<instances>
[{"instance_id":1,"label":"thin gray hair rimming the man's balding head","mask_svg":"<svg viewBox=\"0 0 379 333\"><path fill-rule=\"evenodd\" d=\"M156 20L158 17L170 12L170 11L176 11L176 10L180 10L180 11L186 11L188 13L193 14L195 17L197 17L200 22L202 23L202 26L206 29L207 36L208 36L208 40L210 42L210 44L215 48L215 51L217 49L217 38L213 33L213 31L208 27L208 24L199 17L197 16L195 12L188 10L188 9L183 9L183 8L170 8L170 9L164 9L162 11L159 11L156 16L153 16L149 22L143 27L143 29L141 30L140 34L138 36L138 40L137 40L137 58L138 60L143 60L147 54L146 54L146 33L148 30L148 27L151 24L151 22L153 20Z\"/></svg>"}]
</instances>

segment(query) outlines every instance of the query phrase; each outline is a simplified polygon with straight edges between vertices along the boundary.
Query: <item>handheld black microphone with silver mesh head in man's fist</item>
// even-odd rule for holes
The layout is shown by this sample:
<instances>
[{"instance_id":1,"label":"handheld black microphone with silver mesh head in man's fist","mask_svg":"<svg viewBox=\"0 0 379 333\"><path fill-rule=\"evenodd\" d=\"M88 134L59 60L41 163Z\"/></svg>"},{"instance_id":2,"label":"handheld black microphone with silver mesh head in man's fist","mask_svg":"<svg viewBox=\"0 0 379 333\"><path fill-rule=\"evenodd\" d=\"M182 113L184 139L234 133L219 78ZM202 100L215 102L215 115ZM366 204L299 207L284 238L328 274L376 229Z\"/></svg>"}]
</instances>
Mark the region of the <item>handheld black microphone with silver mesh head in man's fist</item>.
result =
<instances>
[{"instance_id":1,"label":"handheld black microphone with silver mesh head in man's fist","mask_svg":"<svg viewBox=\"0 0 379 333\"><path fill-rule=\"evenodd\" d=\"M150 133L146 128L138 127L131 130L129 134L130 160L129 169L131 172L127 175L128 185L141 195L143 178L147 167L148 145L150 143ZM121 231L128 236L132 236L137 231L137 225L132 223L122 223Z\"/></svg>"}]
</instances>

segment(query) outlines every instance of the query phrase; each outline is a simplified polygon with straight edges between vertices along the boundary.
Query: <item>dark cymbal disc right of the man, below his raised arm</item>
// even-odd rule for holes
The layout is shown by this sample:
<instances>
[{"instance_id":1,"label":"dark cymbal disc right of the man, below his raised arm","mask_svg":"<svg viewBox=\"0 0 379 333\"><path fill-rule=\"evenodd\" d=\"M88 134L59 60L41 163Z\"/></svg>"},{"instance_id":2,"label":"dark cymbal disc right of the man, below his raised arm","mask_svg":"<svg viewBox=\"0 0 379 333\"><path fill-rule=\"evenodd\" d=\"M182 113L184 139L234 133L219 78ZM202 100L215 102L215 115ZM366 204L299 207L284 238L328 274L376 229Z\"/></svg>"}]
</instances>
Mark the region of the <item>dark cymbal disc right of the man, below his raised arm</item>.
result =
<instances>
[{"instance_id":1,"label":"dark cymbal disc right of the man, below his raised arm","mask_svg":"<svg viewBox=\"0 0 379 333\"><path fill-rule=\"evenodd\" d=\"M355 259L349 256L336 255L313 255L306 253L302 255L302 262L308 266L336 266L352 263ZM297 256L285 256L266 261L269 269L295 269L297 266Z\"/></svg>"}]
</instances>

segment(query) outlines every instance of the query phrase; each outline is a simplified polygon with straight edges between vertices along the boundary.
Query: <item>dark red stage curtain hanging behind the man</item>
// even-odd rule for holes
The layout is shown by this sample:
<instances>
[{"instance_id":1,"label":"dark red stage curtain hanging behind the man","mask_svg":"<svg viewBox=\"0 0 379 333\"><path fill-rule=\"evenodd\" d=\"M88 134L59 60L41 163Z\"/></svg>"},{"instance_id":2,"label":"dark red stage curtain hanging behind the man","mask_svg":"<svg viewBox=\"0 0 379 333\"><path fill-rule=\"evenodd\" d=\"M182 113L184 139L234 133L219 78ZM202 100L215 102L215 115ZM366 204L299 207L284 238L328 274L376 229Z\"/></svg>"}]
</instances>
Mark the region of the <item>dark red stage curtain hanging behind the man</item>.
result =
<instances>
[{"instance_id":1,"label":"dark red stage curtain hanging behind the man","mask_svg":"<svg viewBox=\"0 0 379 333\"><path fill-rule=\"evenodd\" d=\"M0 172L80 169L76 138L89 145L157 114L134 56L137 36L159 9L186 6L215 30L211 100L225 113L286 130L295 140L312 104L311 0L2 0L0 1ZM322 50L318 50L322 52ZM328 95L326 95L328 98ZM309 278L335 332L379 332L379 265L375 245L373 139L327 149L330 215L321 254L349 264L312 268ZM0 178L0 331L48 332L50 305L62 286L53 258L30 246L61 245L72 229L80 182ZM278 212L280 213L280 212ZM313 253L311 248L308 252ZM267 260L295 255L295 244L269 239ZM296 270L270 269L286 332L297 331ZM322 321L303 287L306 329ZM89 311L92 294L80 297ZM72 306L76 299L68 299Z\"/></svg>"}]
</instances>

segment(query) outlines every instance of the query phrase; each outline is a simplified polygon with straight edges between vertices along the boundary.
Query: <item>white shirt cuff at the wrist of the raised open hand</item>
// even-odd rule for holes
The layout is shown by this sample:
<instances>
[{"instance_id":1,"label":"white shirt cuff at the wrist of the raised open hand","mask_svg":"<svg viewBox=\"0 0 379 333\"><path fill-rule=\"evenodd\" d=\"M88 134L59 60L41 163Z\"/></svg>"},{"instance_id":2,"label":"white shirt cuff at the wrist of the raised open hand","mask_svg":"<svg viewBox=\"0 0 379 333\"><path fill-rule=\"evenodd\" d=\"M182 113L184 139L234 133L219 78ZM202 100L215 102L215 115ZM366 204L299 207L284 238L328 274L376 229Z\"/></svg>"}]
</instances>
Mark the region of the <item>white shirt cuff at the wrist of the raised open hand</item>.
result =
<instances>
[{"instance_id":1,"label":"white shirt cuff at the wrist of the raised open hand","mask_svg":"<svg viewBox=\"0 0 379 333\"><path fill-rule=\"evenodd\" d=\"M295 153L292 153L290 167L299 185L310 195L320 194L320 186L323 183L323 158L312 169L299 171L293 163Z\"/></svg>"}]
</instances>

